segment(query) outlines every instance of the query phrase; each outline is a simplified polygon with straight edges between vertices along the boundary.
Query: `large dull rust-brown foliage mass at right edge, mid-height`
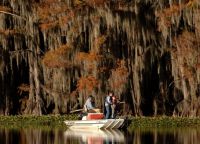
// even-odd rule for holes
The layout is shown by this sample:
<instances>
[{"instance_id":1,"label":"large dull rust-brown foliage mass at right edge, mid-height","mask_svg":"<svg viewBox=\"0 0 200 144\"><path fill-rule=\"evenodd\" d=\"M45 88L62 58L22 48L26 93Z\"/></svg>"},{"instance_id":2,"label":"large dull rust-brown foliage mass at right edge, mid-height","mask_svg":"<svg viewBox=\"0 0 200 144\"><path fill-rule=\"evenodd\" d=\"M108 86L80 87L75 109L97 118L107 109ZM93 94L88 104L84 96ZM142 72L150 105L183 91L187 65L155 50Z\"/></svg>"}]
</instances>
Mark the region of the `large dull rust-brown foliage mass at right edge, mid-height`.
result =
<instances>
[{"instance_id":1,"label":"large dull rust-brown foliage mass at right edge, mid-height","mask_svg":"<svg viewBox=\"0 0 200 144\"><path fill-rule=\"evenodd\" d=\"M171 51L177 68L180 69L182 76L189 80L194 79L195 69L198 66L197 39L195 34L184 31L177 38L174 38L176 50Z\"/></svg>"}]
</instances>

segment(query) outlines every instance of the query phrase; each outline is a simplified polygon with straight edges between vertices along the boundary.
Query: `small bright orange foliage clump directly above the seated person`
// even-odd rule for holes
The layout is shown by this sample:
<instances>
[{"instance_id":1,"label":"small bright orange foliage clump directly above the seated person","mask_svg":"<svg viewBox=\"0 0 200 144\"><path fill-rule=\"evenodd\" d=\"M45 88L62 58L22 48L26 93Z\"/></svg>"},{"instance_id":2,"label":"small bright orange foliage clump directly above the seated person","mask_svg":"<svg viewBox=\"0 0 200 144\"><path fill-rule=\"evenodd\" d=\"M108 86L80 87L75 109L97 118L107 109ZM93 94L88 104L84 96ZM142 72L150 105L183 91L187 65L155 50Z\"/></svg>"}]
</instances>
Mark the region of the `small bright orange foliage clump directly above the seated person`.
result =
<instances>
[{"instance_id":1,"label":"small bright orange foliage clump directly above the seated person","mask_svg":"<svg viewBox=\"0 0 200 144\"><path fill-rule=\"evenodd\" d=\"M81 77L78 80L78 91L88 91L89 93L98 87L98 80L94 76Z\"/></svg>"}]
</instances>

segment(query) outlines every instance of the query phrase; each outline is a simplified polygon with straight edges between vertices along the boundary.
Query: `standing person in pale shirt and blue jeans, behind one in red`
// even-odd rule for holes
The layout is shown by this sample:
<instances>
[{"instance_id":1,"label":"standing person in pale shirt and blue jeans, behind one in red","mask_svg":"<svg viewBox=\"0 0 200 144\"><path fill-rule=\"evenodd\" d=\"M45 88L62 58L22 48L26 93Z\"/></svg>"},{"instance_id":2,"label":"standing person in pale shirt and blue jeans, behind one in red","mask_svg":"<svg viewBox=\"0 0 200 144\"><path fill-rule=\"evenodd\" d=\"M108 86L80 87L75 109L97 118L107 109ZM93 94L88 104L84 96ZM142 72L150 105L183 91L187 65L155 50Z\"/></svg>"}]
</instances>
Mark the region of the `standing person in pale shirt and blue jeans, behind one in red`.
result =
<instances>
[{"instance_id":1,"label":"standing person in pale shirt and blue jeans, behind one in red","mask_svg":"<svg viewBox=\"0 0 200 144\"><path fill-rule=\"evenodd\" d=\"M111 117L111 104L112 104L112 96L113 93L109 92L108 95L105 98L105 116L106 119L109 119Z\"/></svg>"}]
</instances>

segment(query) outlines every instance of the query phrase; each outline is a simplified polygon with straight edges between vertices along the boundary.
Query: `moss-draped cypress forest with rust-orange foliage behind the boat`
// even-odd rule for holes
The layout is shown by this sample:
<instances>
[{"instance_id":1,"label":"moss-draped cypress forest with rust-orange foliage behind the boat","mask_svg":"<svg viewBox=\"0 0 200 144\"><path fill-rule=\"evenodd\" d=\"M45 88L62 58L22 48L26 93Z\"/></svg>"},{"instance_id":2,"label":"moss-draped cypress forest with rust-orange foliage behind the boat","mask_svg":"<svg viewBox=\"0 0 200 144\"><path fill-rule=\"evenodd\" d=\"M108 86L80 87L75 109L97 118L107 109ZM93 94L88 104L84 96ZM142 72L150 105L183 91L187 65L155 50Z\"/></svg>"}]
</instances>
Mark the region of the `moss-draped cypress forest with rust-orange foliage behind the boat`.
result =
<instances>
[{"instance_id":1,"label":"moss-draped cypress forest with rust-orange foliage behind the boat","mask_svg":"<svg viewBox=\"0 0 200 144\"><path fill-rule=\"evenodd\" d=\"M108 90L134 116L200 115L198 0L3 0L0 114L67 114Z\"/></svg>"}]
</instances>

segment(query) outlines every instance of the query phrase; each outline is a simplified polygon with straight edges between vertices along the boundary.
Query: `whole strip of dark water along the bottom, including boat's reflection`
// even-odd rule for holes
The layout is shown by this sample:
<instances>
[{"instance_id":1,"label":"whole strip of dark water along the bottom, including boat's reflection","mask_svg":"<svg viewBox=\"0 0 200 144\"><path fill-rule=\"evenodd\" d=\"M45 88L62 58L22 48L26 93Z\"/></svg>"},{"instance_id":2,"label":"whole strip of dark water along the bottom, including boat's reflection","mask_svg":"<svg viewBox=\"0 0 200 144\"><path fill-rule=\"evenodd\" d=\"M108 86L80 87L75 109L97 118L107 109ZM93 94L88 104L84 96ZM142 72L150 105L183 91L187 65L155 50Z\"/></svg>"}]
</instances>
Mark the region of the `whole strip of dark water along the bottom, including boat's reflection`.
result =
<instances>
[{"instance_id":1,"label":"whole strip of dark water along the bottom, including boat's reflection","mask_svg":"<svg viewBox=\"0 0 200 144\"><path fill-rule=\"evenodd\" d=\"M0 144L199 144L200 129L0 129Z\"/></svg>"}]
</instances>

